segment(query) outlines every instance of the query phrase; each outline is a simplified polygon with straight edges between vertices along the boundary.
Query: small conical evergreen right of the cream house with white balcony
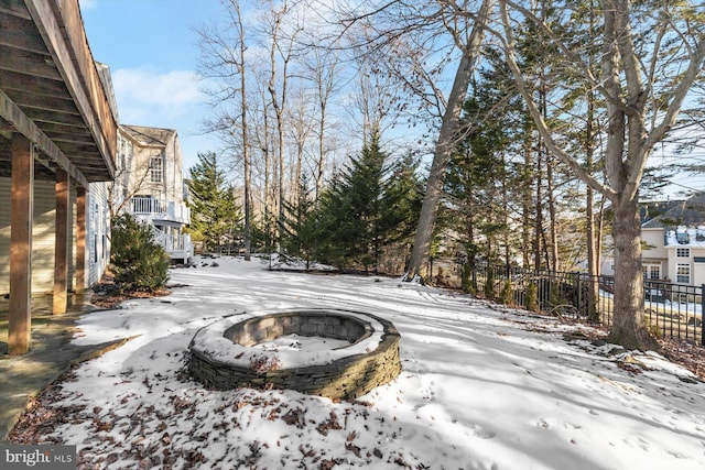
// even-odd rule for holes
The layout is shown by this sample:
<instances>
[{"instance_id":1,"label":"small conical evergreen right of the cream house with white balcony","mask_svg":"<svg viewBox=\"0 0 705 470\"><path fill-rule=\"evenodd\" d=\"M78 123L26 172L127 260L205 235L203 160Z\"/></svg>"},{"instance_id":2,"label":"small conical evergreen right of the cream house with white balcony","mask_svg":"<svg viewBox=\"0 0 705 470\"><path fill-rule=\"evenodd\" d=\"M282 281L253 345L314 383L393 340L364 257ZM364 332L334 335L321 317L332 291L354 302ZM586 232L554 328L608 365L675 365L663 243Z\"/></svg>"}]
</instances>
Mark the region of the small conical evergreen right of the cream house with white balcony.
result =
<instances>
[{"instance_id":1,"label":"small conical evergreen right of the cream house with white balcony","mask_svg":"<svg viewBox=\"0 0 705 470\"><path fill-rule=\"evenodd\" d=\"M240 209L232 186L227 185L214 152L199 153L191 168L191 230L207 251L234 243L240 232Z\"/></svg>"}]
</instances>

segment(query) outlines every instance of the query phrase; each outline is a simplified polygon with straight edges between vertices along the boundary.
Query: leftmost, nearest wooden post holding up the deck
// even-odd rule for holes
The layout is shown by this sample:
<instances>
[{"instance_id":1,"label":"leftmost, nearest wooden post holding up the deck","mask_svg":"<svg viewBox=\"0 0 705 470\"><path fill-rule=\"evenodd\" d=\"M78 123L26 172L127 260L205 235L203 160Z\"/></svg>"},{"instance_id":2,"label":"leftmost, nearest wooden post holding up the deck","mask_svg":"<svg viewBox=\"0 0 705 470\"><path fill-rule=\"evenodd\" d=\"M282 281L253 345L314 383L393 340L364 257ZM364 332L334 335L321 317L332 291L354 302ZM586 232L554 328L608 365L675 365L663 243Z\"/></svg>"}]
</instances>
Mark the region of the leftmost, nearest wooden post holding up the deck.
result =
<instances>
[{"instance_id":1,"label":"leftmost, nearest wooden post holding up the deck","mask_svg":"<svg viewBox=\"0 0 705 470\"><path fill-rule=\"evenodd\" d=\"M12 136L10 201L10 313L8 349L24 354L32 328L32 209L34 149L24 135Z\"/></svg>"}]
</instances>

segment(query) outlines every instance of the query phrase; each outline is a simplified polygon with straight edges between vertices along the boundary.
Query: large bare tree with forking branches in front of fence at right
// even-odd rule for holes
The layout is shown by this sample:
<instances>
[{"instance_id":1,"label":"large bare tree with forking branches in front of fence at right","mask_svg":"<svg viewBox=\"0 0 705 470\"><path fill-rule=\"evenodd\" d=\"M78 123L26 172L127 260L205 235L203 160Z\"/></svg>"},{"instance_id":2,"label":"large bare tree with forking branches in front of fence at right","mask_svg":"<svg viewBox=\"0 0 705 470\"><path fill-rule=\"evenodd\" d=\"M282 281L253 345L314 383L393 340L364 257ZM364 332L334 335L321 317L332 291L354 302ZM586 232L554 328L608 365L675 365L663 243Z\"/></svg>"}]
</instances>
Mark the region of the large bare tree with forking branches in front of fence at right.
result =
<instances>
[{"instance_id":1,"label":"large bare tree with forking branches in front of fence at right","mask_svg":"<svg viewBox=\"0 0 705 470\"><path fill-rule=\"evenodd\" d=\"M639 186L651 151L675 123L691 87L703 79L705 24L688 2L599 3L603 59L597 69L588 65L579 50L563 41L555 24L542 21L521 2L499 0L502 31L495 31L495 35L503 42L517 87L547 149L611 201L615 319L610 339L628 348L655 348L643 320ZM576 79L587 81L605 100L606 183L596 179L561 146L555 129L534 101L532 84L517 59L514 25L520 17L538 25L560 52L563 67L573 70Z\"/></svg>"}]
</instances>

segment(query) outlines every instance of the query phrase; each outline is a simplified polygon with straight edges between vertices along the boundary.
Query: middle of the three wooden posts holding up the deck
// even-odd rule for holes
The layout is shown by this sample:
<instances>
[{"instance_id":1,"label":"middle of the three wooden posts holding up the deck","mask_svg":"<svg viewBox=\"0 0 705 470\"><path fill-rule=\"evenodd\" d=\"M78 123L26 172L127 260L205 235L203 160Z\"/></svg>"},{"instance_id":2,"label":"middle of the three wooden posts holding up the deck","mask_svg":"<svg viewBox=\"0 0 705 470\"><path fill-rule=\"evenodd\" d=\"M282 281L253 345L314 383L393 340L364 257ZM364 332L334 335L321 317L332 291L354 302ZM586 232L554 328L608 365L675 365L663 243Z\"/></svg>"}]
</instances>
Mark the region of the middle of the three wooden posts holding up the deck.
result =
<instances>
[{"instance_id":1,"label":"middle of the three wooden posts holding up the deck","mask_svg":"<svg viewBox=\"0 0 705 470\"><path fill-rule=\"evenodd\" d=\"M56 171L56 219L54 223L53 314L66 313L68 304L68 173Z\"/></svg>"}]
</instances>

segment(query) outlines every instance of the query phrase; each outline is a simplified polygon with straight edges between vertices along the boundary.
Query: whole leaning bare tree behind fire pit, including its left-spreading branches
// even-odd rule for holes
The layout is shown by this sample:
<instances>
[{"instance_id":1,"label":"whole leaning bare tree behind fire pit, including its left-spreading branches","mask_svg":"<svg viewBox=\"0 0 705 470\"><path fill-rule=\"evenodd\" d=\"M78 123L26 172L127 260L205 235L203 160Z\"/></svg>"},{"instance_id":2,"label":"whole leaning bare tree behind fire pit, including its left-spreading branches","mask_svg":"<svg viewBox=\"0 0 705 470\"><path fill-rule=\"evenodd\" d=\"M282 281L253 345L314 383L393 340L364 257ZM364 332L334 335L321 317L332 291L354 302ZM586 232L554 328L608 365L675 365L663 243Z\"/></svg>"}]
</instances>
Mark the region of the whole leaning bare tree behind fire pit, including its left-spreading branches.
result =
<instances>
[{"instance_id":1,"label":"whole leaning bare tree behind fire pit, including its left-spreading branches","mask_svg":"<svg viewBox=\"0 0 705 470\"><path fill-rule=\"evenodd\" d=\"M459 130L459 116L495 0L361 1L341 13L345 33L376 70L392 77L404 91L395 111L437 131L433 163L414 239L406 280L427 274L431 240L443 181ZM454 67L446 95L444 77ZM413 105L412 105L413 103Z\"/></svg>"}]
</instances>

